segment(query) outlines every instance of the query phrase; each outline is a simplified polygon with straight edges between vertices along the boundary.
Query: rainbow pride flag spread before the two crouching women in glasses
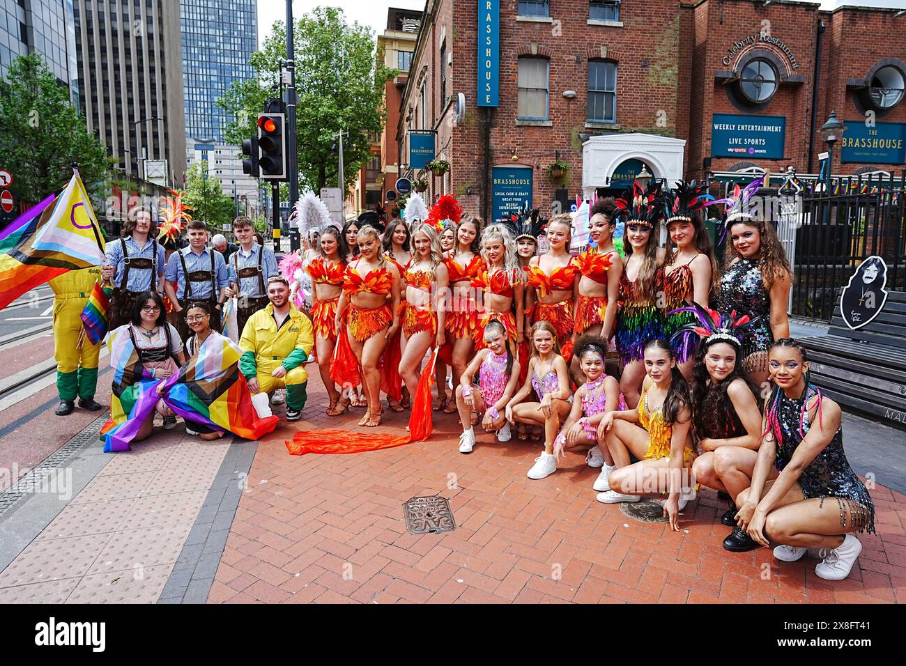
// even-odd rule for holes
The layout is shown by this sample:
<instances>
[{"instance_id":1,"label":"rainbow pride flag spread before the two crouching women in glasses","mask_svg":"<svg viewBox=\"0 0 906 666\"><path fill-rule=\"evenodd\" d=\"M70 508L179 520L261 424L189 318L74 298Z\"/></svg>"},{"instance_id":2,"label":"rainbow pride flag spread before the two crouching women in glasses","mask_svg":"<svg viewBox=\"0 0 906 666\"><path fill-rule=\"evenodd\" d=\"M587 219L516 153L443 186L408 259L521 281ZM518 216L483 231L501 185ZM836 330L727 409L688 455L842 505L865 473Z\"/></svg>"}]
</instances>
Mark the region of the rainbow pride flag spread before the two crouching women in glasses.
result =
<instances>
[{"instance_id":1,"label":"rainbow pride flag spread before the two crouching women in glasses","mask_svg":"<svg viewBox=\"0 0 906 666\"><path fill-rule=\"evenodd\" d=\"M166 380L150 379L130 339L128 324L108 340L113 368L111 419L101 428L104 451L126 451L141 425L153 418L159 398L187 421L245 439L260 439L280 419L258 417L239 372L241 350L220 333L212 332L198 352ZM159 384L163 389L158 394Z\"/></svg>"}]
</instances>

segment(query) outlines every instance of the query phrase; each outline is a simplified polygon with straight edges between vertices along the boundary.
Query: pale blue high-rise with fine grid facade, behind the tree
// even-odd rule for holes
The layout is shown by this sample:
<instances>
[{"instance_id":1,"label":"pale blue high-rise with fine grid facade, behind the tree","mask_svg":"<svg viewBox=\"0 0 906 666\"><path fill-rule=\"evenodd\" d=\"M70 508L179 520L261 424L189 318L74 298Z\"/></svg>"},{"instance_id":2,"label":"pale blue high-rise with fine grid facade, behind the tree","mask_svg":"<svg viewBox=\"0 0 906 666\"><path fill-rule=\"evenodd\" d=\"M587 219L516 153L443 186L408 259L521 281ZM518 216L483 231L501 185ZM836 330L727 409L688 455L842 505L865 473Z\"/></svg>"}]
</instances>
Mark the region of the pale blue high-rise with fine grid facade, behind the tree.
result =
<instances>
[{"instance_id":1,"label":"pale blue high-rise with fine grid facade, behind the tree","mask_svg":"<svg viewBox=\"0 0 906 666\"><path fill-rule=\"evenodd\" d=\"M223 142L226 113L217 100L234 81L254 75L256 0L179 0L186 133Z\"/></svg>"}]
</instances>

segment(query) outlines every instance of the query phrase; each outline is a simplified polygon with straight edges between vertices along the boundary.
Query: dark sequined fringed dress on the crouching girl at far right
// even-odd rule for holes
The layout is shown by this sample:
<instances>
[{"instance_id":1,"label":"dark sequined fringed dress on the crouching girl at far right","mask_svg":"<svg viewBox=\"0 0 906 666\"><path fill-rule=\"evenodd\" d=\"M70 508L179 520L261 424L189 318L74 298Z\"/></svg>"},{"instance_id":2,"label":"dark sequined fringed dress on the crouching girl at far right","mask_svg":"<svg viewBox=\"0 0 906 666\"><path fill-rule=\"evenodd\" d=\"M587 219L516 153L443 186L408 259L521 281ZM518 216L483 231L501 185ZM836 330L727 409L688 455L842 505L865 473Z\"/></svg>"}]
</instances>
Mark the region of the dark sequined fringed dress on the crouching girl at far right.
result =
<instances>
[{"instance_id":1,"label":"dark sequined fringed dress on the crouching girl at far right","mask_svg":"<svg viewBox=\"0 0 906 666\"><path fill-rule=\"evenodd\" d=\"M796 447L805 439L812 424L805 411L806 396L793 399L776 390L776 424L779 433L776 445L776 468L782 473L793 458ZM811 400L814 391L806 391ZM820 413L820 412L819 412ZM820 417L819 417L820 418ZM801 423L801 426L800 426ZM806 499L836 497L840 506L840 524L846 526L846 515L852 516L859 531L874 532L874 503L863 482L855 475L843 450L843 426L834 433L831 442L814 457L798 479ZM847 512L846 509L849 509Z\"/></svg>"}]
</instances>

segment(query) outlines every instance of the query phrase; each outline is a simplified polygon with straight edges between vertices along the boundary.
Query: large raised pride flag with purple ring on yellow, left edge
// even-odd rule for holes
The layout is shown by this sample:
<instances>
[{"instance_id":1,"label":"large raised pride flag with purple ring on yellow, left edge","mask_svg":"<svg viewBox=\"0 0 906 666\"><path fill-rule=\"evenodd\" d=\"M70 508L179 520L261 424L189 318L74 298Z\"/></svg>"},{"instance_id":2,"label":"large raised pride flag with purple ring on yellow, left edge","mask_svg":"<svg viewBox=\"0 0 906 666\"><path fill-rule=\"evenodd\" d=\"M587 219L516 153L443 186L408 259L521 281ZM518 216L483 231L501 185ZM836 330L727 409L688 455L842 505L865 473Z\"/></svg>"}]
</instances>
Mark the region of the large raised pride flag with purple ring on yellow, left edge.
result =
<instances>
[{"instance_id":1,"label":"large raised pride flag with purple ring on yellow, left edge","mask_svg":"<svg viewBox=\"0 0 906 666\"><path fill-rule=\"evenodd\" d=\"M103 235L79 172L0 231L0 309L37 285L76 268L101 265Z\"/></svg>"}]
</instances>

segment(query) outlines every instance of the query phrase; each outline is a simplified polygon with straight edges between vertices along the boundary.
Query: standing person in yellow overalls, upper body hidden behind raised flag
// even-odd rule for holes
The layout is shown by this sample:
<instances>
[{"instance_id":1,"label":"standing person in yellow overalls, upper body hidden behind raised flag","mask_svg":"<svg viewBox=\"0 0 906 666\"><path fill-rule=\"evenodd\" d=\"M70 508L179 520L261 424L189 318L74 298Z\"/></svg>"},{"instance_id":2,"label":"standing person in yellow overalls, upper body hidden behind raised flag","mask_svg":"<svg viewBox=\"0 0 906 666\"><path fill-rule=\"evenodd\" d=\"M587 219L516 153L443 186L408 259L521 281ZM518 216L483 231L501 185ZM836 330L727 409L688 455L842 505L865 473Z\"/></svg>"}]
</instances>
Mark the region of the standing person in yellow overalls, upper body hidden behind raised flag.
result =
<instances>
[{"instance_id":1,"label":"standing person in yellow overalls, upper body hidden behind raised flag","mask_svg":"<svg viewBox=\"0 0 906 666\"><path fill-rule=\"evenodd\" d=\"M60 404L53 413L57 416L72 414L76 396L84 410L103 409L94 401L101 343L92 344L82 331L82 310L100 277L101 266L92 266L67 271L48 283L53 289L53 357L60 394Z\"/></svg>"}]
</instances>

